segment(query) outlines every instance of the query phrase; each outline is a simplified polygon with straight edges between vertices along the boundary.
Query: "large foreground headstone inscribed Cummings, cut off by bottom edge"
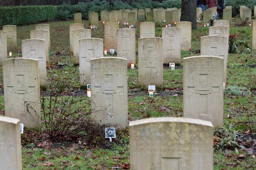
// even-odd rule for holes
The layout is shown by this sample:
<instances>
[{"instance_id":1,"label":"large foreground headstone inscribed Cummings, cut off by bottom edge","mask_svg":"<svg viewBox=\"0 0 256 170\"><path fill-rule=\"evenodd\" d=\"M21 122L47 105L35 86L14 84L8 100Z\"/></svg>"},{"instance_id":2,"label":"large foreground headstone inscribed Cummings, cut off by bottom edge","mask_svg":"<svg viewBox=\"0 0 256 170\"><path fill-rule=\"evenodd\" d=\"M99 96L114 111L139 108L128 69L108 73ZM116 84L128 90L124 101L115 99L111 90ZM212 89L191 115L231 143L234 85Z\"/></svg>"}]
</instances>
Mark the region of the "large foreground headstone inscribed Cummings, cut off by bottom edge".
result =
<instances>
[{"instance_id":1,"label":"large foreground headstone inscribed Cummings, cut off by bottom edge","mask_svg":"<svg viewBox=\"0 0 256 170\"><path fill-rule=\"evenodd\" d=\"M160 117L130 122L131 170L213 170L212 123Z\"/></svg>"}]
</instances>

